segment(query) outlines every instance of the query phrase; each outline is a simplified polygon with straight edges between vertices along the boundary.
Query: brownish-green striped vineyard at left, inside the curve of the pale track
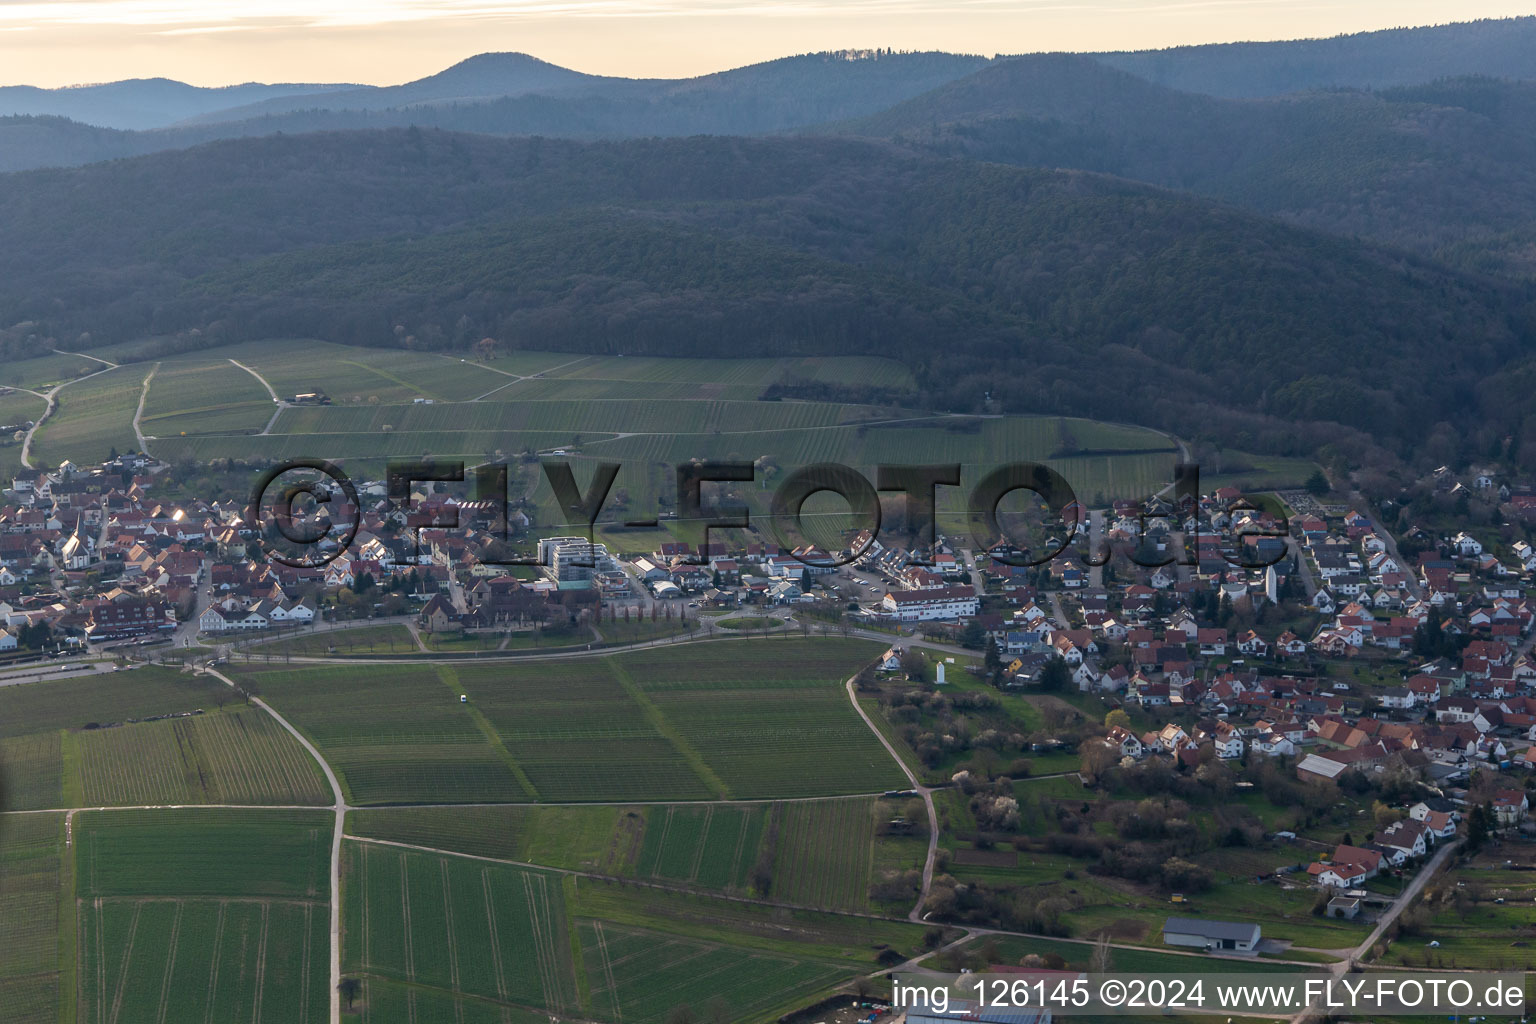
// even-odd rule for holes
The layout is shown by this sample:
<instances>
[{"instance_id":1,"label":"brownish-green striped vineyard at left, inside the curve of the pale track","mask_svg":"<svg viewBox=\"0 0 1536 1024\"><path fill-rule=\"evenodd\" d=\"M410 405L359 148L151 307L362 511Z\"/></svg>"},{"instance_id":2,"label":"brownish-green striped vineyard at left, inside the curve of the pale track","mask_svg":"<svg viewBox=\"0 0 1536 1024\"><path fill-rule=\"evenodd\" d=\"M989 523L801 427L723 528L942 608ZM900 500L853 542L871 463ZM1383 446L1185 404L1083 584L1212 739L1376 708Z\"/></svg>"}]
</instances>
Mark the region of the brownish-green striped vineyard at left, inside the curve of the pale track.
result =
<instances>
[{"instance_id":1,"label":"brownish-green striped vineyard at left, inside the curve of the pale track","mask_svg":"<svg viewBox=\"0 0 1536 1024\"><path fill-rule=\"evenodd\" d=\"M89 806L327 804L313 758L261 711L232 711L80 734Z\"/></svg>"}]
</instances>

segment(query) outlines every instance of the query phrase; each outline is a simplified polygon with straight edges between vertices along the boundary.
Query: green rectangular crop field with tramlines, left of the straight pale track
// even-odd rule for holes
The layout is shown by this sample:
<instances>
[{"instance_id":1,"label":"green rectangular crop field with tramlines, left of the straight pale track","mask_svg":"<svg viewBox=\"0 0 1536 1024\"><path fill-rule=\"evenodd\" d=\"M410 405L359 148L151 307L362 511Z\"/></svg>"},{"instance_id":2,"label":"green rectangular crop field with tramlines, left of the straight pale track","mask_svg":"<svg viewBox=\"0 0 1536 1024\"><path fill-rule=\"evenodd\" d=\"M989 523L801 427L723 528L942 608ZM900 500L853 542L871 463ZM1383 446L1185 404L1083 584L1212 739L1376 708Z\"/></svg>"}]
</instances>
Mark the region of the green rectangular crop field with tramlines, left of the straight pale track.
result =
<instances>
[{"instance_id":1,"label":"green rectangular crop field with tramlines, left of the straight pale track","mask_svg":"<svg viewBox=\"0 0 1536 1024\"><path fill-rule=\"evenodd\" d=\"M75 815L80 1021L324 1021L332 815Z\"/></svg>"}]
</instances>

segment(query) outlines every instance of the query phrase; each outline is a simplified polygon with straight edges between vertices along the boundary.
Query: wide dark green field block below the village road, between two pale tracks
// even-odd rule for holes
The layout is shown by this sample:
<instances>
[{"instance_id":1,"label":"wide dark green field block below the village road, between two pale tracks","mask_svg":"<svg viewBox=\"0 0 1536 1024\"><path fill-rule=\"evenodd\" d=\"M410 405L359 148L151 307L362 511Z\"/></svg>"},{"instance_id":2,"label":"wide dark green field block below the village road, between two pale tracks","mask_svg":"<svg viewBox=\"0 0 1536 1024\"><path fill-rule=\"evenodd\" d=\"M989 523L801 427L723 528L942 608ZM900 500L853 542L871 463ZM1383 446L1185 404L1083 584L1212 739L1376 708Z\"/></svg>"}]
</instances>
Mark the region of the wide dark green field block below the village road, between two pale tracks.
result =
<instances>
[{"instance_id":1,"label":"wide dark green field block below the village road, between two pale tracks","mask_svg":"<svg viewBox=\"0 0 1536 1024\"><path fill-rule=\"evenodd\" d=\"M877 645L717 643L594 662L235 671L309 734L359 804L817 797L902 785L842 689Z\"/></svg>"}]
</instances>

